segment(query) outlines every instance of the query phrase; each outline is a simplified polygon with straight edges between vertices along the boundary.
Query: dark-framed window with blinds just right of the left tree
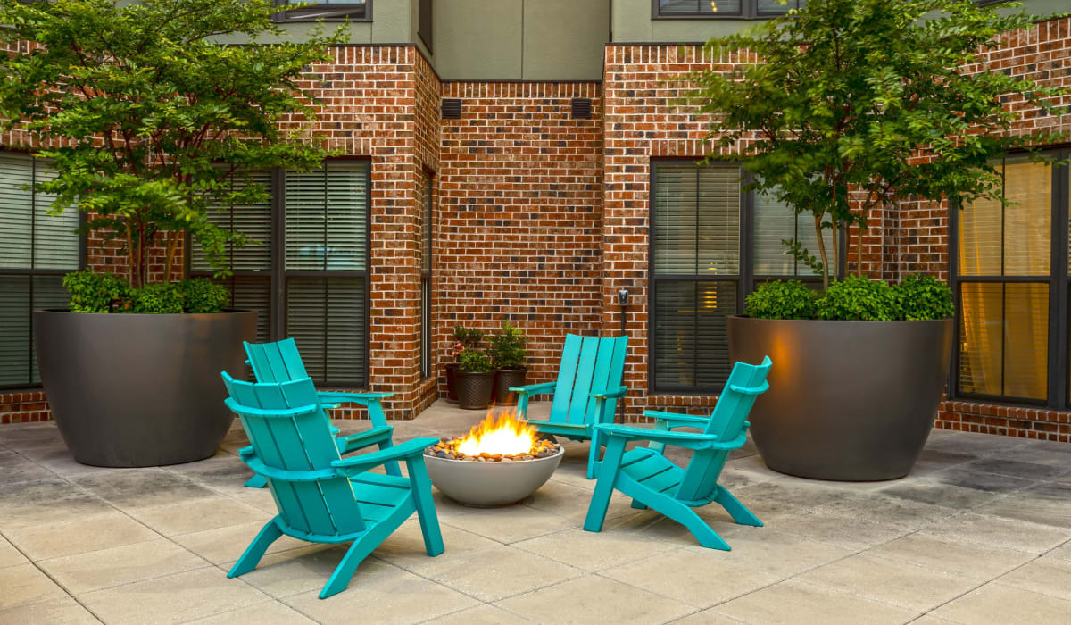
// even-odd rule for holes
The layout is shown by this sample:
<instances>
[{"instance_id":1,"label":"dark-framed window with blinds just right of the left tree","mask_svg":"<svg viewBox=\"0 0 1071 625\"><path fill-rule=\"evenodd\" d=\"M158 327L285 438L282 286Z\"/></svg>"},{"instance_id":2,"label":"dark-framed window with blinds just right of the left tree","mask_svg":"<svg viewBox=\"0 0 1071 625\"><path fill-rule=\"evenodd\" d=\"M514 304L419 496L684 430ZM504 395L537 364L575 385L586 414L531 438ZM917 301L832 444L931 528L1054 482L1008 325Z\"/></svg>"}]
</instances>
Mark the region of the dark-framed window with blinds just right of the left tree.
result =
<instances>
[{"instance_id":1,"label":"dark-framed window with blinds just right of the left tree","mask_svg":"<svg viewBox=\"0 0 1071 625\"><path fill-rule=\"evenodd\" d=\"M256 241L230 251L231 306L257 311L257 340L292 337L326 386L367 380L368 170L367 161L330 160L308 173L253 174L276 191L272 202L213 213ZM191 273L211 274L196 249Z\"/></svg>"}]
</instances>

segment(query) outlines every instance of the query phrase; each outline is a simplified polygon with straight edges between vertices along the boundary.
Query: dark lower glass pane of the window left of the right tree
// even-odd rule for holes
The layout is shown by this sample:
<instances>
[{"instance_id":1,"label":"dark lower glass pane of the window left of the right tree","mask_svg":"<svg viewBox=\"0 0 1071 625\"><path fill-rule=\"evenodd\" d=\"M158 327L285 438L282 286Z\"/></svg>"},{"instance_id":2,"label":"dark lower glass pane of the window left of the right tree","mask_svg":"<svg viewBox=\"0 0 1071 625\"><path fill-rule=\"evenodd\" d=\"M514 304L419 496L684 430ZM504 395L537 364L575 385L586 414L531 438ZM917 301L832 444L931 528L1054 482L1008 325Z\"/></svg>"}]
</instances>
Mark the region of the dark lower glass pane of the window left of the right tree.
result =
<instances>
[{"instance_id":1,"label":"dark lower glass pane of the window left of the right tree","mask_svg":"<svg viewBox=\"0 0 1071 625\"><path fill-rule=\"evenodd\" d=\"M654 302L658 387L715 390L728 375L725 317L736 314L736 283L660 282Z\"/></svg>"}]
</instances>

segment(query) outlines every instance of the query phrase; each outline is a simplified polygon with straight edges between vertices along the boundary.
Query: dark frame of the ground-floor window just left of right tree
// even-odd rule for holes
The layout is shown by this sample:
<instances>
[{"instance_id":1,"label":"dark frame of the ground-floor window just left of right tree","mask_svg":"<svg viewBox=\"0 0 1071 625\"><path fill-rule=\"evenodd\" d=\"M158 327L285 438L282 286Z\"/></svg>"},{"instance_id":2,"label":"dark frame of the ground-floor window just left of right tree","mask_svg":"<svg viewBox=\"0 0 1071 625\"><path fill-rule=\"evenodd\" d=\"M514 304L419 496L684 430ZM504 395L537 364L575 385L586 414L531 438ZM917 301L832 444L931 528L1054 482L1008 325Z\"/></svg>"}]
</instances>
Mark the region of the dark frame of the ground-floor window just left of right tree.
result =
<instances>
[{"instance_id":1,"label":"dark frame of the ground-floor window just left of right tree","mask_svg":"<svg viewBox=\"0 0 1071 625\"><path fill-rule=\"evenodd\" d=\"M759 273L756 274L754 271L755 258L754 258L754 243L755 243L755 197L753 192L744 191L744 187L751 182L753 179L750 174L748 174L740 161L718 161L718 165L729 165L740 168L740 219L739 219L739 271L736 276L660 276L655 271L655 249L659 240L658 227L654 220L655 206L654 202L658 197L658 168L660 165L681 165L681 164L692 164L693 166L700 167L702 165L695 165L696 161L700 160L702 157L689 157L689 158L674 158L674 159L652 159L649 168L649 194L648 194L648 298L647 298L647 337L648 337L648 387L651 389L651 395L673 395L673 396L709 396L719 395L722 391L723 385L706 387L706 388L689 388L689 387L675 387L672 384L664 384L659 382L658 376L658 337L654 328L657 326L655 313L658 309L658 294L660 286L663 286L670 282L736 282L736 310L735 314L742 314L744 310L744 298L748 294L755 289L755 286L765 282L767 280L799 280L804 284L811 285L815 288L821 287L821 276L816 274L798 274L798 276L787 276L787 274L769 274ZM847 237L844 236L843 230L841 236L838 237L836 245L839 245L839 267L836 269L835 276L843 277L846 267L846 247ZM696 319L698 323L698 318ZM696 376L697 378L697 376Z\"/></svg>"}]
</instances>

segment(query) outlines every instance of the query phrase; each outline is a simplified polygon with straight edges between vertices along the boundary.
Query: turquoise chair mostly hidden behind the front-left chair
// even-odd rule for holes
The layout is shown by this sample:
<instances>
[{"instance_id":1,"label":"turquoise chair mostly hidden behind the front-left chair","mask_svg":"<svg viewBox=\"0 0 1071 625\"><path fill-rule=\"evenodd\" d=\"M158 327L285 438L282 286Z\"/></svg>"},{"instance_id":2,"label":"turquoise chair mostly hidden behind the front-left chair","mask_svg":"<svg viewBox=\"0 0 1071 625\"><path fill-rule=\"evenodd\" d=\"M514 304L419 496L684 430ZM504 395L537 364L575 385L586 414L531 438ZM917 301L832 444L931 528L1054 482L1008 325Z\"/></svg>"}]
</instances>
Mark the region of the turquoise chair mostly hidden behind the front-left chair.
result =
<instances>
[{"instance_id":1,"label":"turquoise chair mostly hidden behind the front-left chair","mask_svg":"<svg viewBox=\"0 0 1071 625\"><path fill-rule=\"evenodd\" d=\"M256 376L257 382L281 383L308 377L305 364L301 361L301 354L298 353L298 344L293 339L283 339L274 343L250 343L242 341L242 344L245 345L245 355L248 356L248 360L245 362L253 369L253 375ZM383 406L379 403L379 400L393 396L393 392L319 393L320 402L322 402L323 407L327 410L331 410L341 403L356 403L368 410L368 419L372 421L372 428L352 436L336 438L335 445L338 447L341 453L349 453L353 449L359 449L369 444L377 444L380 449L391 446L394 428L387 425L387 414L383 412ZM330 425L330 417L327 412L323 413L323 417L328 419L328 425ZM331 432L337 435L338 428L332 427ZM388 463L387 473L390 475L402 475L397 462ZM263 488L267 486L267 482L263 477L254 475L245 482L245 486L248 488Z\"/></svg>"}]
</instances>

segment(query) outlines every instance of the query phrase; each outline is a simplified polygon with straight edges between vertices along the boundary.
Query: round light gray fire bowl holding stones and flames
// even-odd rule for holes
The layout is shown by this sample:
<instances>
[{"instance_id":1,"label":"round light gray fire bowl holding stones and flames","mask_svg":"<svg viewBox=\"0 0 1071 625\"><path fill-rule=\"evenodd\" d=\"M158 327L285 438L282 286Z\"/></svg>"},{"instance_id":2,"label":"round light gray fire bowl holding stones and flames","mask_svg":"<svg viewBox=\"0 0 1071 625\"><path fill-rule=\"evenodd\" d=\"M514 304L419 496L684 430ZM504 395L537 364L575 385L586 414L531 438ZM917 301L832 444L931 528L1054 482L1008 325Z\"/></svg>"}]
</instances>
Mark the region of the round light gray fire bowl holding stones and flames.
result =
<instances>
[{"instance_id":1,"label":"round light gray fire bowl holding stones and flames","mask_svg":"<svg viewBox=\"0 0 1071 625\"><path fill-rule=\"evenodd\" d=\"M427 475L442 494L466 506L492 508L515 504L543 486L561 463L564 447L546 458L477 462L424 455Z\"/></svg>"}]
</instances>

